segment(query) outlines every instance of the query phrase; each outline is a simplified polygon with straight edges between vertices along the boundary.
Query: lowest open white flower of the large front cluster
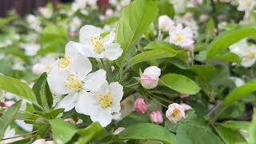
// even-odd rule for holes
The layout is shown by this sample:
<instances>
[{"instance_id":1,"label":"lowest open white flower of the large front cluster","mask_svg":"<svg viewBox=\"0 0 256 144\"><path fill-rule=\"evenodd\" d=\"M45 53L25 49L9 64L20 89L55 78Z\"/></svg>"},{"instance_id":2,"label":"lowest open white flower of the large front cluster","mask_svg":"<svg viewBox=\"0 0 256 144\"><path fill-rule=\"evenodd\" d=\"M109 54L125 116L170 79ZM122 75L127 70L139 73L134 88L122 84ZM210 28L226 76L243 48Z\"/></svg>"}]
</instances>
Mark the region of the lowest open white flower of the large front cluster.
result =
<instances>
[{"instance_id":1,"label":"lowest open white flower of the large front cluster","mask_svg":"<svg viewBox=\"0 0 256 144\"><path fill-rule=\"evenodd\" d=\"M88 90L90 92L85 93L85 96L79 99L76 111L80 114L90 115L93 122L99 122L104 127L109 125L113 115L118 114L121 110L122 85L118 82L109 84L106 80L101 84L94 80L88 86Z\"/></svg>"}]
</instances>

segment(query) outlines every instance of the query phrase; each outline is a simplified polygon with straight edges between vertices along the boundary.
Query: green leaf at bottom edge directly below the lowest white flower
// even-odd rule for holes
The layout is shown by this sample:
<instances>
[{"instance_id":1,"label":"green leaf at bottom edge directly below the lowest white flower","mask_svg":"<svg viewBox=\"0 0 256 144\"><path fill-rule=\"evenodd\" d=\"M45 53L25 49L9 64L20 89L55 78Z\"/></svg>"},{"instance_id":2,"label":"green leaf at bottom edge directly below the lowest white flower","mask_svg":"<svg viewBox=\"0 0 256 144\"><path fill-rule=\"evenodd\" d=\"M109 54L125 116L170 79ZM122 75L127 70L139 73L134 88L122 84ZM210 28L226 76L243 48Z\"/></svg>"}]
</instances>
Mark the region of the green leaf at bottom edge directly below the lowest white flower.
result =
<instances>
[{"instance_id":1,"label":"green leaf at bottom edge directly below the lowest white flower","mask_svg":"<svg viewBox=\"0 0 256 144\"><path fill-rule=\"evenodd\" d=\"M78 130L78 134L82 135L82 138L79 138L77 143L87 143L95 138L102 136L105 133L105 129L98 123L94 122L85 129Z\"/></svg>"}]
</instances>

